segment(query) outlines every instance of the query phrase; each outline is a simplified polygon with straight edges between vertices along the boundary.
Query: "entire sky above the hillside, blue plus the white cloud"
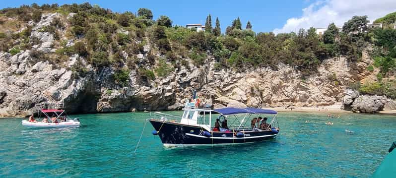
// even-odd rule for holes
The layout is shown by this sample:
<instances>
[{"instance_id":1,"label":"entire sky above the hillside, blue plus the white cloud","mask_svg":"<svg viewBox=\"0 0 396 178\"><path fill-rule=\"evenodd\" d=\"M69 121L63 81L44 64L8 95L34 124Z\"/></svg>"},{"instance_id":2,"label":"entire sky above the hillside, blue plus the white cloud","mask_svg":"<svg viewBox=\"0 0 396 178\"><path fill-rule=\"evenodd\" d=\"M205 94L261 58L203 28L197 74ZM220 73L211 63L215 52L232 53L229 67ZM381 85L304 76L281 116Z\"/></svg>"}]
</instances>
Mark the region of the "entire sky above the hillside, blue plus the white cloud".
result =
<instances>
[{"instance_id":1,"label":"entire sky above the hillside, blue plus the white cloud","mask_svg":"<svg viewBox=\"0 0 396 178\"><path fill-rule=\"evenodd\" d=\"M173 25L182 26L204 24L210 13L212 25L218 17L223 32L237 17L240 17L243 28L250 20L256 32L282 33L311 26L326 27L331 22L342 26L353 15L368 15L373 21L396 11L394 0L1 0L0 8L33 2L65 4L85 1L117 12L149 8L154 19L167 15Z\"/></svg>"}]
</instances>

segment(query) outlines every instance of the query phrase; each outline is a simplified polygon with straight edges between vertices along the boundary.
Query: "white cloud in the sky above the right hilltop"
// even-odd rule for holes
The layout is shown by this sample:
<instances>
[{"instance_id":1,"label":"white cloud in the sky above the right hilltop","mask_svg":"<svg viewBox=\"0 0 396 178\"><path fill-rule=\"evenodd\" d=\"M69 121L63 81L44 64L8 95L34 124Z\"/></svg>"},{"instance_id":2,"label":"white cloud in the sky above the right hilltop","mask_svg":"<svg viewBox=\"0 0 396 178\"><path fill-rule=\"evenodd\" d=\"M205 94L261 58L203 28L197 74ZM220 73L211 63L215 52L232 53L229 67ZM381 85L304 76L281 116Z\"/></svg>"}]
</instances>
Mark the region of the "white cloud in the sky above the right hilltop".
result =
<instances>
[{"instance_id":1,"label":"white cloud in the sky above the right hilltop","mask_svg":"<svg viewBox=\"0 0 396 178\"><path fill-rule=\"evenodd\" d=\"M288 33L300 28L323 28L331 22L342 26L354 15L367 15L370 22L390 12L396 11L395 0L317 0L302 9L301 17L287 19L282 28L275 28L273 32Z\"/></svg>"}]
</instances>

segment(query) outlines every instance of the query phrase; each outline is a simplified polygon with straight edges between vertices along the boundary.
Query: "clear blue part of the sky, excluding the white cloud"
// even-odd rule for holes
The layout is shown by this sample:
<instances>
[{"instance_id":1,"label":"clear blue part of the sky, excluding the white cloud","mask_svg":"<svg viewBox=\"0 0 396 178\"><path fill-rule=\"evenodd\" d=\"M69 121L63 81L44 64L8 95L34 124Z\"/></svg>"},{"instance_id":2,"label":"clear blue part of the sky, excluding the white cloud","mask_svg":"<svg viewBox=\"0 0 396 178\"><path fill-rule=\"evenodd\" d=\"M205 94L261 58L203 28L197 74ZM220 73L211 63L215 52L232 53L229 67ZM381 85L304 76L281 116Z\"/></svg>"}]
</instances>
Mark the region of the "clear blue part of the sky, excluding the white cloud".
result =
<instances>
[{"instance_id":1,"label":"clear blue part of the sky, excluding the white cloud","mask_svg":"<svg viewBox=\"0 0 396 178\"><path fill-rule=\"evenodd\" d=\"M306 1L266 1L266 0L1 0L0 8L17 7L21 4L42 3L82 3L99 4L101 7L113 11L136 12L138 8L145 7L152 10L154 18L167 15L173 24L185 25L188 23L205 23L207 14L211 14L212 22L219 17L222 31L231 24L232 20L240 17L243 27L248 20L255 31L272 31L282 27L286 20L301 14L301 9L307 5Z\"/></svg>"}]
</instances>

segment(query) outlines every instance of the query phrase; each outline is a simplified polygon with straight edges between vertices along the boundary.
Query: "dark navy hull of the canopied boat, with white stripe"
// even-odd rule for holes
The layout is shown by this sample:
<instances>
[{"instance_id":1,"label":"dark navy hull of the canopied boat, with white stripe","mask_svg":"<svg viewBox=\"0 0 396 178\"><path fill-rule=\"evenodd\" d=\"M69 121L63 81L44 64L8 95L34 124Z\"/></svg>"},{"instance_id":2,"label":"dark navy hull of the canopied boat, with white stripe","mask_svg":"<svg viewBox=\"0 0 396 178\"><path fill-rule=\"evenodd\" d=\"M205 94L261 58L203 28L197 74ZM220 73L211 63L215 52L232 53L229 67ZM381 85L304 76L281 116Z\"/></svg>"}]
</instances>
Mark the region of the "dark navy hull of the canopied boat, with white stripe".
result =
<instances>
[{"instance_id":1,"label":"dark navy hull of the canopied boat, with white stripe","mask_svg":"<svg viewBox=\"0 0 396 178\"><path fill-rule=\"evenodd\" d=\"M222 145L264 141L277 131L210 132L200 126L150 119L164 146ZM204 133L206 131L206 135ZM208 133L209 132L209 133ZM155 133L155 132L154 132Z\"/></svg>"}]
</instances>

